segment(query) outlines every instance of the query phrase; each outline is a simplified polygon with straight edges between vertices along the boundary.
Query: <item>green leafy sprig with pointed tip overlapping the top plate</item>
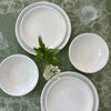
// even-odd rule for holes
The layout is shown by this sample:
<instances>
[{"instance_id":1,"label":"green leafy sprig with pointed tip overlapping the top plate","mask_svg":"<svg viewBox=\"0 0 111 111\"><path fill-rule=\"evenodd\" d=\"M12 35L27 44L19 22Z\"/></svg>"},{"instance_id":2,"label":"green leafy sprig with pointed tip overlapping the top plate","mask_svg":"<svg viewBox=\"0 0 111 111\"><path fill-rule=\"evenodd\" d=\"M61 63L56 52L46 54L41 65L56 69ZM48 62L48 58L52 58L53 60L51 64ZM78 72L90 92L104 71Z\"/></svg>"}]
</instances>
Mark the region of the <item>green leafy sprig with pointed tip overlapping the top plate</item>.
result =
<instances>
[{"instance_id":1,"label":"green leafy sprig with pointed tip overlapping the top plate","mask_svg":"<svg viewBox=\"0 0 111 111\"><path fill-rule=\"evenodd\" d=\"M52 64L52 65L59 65L60 60L57 58L58 52L60 49L50 49L46 47L46 44L42 42L41 36L38 37L39 39L39 48L33 48L37 52L37 56L34 58L34 61L42 62L43 63L43 70L46 69L46 65Z\"/></svg>"}]
</instances>

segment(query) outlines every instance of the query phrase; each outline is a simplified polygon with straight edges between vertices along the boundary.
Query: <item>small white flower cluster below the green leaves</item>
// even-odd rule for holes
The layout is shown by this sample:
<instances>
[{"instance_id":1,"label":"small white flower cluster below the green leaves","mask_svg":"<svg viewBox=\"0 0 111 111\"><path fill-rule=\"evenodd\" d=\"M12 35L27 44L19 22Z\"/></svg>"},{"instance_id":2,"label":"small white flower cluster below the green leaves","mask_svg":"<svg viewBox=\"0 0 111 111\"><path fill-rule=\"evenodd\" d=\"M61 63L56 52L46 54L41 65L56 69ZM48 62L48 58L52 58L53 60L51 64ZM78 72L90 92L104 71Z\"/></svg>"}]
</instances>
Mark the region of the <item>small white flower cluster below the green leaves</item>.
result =
<instances>
[{"instance_id":1,"label":"small white flower cluster below the green leaves","mask_svg":"<svg viewBox=\"0 0 111 111\"><path fill-rule=\"evenodd\" d=\"M46 80L49 80L53 75L59 74L59 73L60 73L60 69L58 67L49 64L49 65L46 65L43 77Z\"/></svg>"}]
</instances>

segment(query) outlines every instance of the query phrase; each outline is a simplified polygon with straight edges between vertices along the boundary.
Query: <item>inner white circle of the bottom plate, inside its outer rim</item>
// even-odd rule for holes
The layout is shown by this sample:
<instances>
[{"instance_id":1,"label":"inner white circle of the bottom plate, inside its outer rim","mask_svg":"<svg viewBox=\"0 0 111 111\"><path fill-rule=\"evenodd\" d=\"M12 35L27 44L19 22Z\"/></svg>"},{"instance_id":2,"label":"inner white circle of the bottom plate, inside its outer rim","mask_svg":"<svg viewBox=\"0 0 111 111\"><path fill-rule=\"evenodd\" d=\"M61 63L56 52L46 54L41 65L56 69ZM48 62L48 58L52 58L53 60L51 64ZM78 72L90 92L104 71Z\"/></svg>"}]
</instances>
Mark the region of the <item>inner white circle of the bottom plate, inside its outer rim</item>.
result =
<instances>
[{"instance_id":1,"label":"inner white circle of the bottom plate, inside its outer rim","mask_svg":"<svg viewBox=\"0 0 111 111\"><path fill-rule=\"evenodd\" d=\"M90 88L77 78L63 78L52 84L47 93L47 111L92 111Z\"/></svg>"}]
</instances>

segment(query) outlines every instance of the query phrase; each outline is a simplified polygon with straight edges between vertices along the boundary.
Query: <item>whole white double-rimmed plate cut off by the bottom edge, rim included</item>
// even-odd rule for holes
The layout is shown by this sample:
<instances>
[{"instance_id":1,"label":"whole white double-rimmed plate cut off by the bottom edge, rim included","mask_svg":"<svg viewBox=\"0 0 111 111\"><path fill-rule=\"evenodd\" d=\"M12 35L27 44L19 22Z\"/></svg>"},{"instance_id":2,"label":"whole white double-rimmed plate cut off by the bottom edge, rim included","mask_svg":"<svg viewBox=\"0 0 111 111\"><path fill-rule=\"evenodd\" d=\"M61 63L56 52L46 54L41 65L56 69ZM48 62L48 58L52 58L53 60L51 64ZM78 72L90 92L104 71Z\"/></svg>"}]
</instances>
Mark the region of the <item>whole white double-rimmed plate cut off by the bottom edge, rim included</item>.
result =
<instances>
[{"instance_id":1,"label":"whole white double-rimmed plate cut off by the bottom edge, rim included","mask_svg":"<svg viewBox=\"0 0 111 111\"><path fill-rule=\"evenodd\" d=\"M62 72L60 79L46 84L41 94L42 111L98 111L98 107L93 83L77 72Z\"/></svg>"}]
</instances>

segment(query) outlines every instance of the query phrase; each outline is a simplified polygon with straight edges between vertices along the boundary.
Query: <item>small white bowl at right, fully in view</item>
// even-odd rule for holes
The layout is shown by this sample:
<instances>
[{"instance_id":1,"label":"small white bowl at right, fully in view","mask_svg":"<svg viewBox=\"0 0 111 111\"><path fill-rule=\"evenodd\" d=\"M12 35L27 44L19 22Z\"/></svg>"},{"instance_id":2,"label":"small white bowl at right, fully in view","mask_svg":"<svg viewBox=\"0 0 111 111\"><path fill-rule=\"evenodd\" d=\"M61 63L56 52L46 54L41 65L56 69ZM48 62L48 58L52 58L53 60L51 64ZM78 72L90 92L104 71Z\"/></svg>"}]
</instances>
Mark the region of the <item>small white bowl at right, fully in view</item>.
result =
<instances>
[{"instance_id":1,"label":"small white bowl at right, fully in view","mask_svg":"<svg viewBox=\"0 0 111 111\"><path fill-rule=\"evenodd\" d=\"M93 73L100 71L107 64L109 48L100 36L83 33L71 42L69 58L78 70Z\"/></svg>"}]
</instances>

